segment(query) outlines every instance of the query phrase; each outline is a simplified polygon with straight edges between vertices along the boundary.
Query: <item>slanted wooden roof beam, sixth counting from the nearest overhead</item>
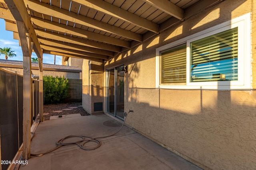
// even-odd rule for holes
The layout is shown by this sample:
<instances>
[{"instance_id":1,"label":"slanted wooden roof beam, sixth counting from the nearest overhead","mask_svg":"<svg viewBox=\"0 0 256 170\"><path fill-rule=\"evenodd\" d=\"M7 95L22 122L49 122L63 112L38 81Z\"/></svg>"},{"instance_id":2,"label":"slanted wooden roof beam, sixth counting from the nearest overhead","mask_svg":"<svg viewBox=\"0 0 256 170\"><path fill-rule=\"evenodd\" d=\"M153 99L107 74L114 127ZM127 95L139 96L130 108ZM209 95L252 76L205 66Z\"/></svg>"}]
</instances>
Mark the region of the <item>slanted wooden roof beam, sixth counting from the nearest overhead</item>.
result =
<instances>
[{"instance_id":1,"label":"slanted wooden roof beam, sixth counting from the nearest overhead","mask_svg":"<svg viewBox=\"0 0 256 170\"><path fill-rule=\"evenodd\" d=\"M38 37L38 40L40 44L46 44L50 46L58 46L66 49L73 49L73 50L80 50L80 51L86 51L89 53L96 53L96 54L101 54L101 55L107 55L107 56L114 56L114 52L112 51L107 51L107 50L102 50L102 49L96 49L92 47L87 47L84 45L78 45L78 44L73 44L73 43L66 43L63 41L57 41L53 39L46 39L43 37Z\"/></svg>"}]
</instances>

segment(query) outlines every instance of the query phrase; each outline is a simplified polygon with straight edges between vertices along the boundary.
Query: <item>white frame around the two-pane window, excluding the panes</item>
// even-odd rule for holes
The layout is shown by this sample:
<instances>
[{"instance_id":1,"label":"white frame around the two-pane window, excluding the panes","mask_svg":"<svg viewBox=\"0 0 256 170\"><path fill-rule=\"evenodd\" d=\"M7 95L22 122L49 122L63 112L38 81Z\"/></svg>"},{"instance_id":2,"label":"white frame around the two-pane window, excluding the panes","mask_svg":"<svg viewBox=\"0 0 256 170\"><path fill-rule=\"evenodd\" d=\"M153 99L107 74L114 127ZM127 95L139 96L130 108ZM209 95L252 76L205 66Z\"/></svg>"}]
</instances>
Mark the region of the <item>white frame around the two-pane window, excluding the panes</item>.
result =
<instances>
[{"instance_id":1,"label":"white frame around the two-pane window, excluding the panes","mask_svg":"<svg viewBox=\"0 0 256 170\"><path fill-rule=\"evenodd\" d=\"M222 31L238 27L238 81L190 82L190 43ZM156 49L156 88L170 89L216 89L216 90L250 90L251 86L251 27L250 13L205 29L188 37L174 41ZM187 44L186 84L160 85L160 54L166 49Z\"/></svg>"}]
</instances>

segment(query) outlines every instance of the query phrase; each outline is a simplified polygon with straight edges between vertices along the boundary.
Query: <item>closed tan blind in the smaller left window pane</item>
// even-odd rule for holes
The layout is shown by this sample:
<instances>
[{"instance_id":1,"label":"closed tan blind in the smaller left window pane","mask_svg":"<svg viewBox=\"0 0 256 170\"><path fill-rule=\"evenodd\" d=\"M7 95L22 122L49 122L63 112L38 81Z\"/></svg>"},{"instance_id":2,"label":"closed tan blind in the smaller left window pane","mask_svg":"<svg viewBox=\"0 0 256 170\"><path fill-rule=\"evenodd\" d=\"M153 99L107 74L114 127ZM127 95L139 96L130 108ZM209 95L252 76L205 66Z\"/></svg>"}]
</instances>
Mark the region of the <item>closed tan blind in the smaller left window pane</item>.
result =
<instances>
[{"instance_id":1,"label":"closed tan blind in the smaller left window pane","mask_svg":"<svg viewBox=\"0 0 256 170\"><path fill-rule=\"evenodd\" d=\"M186 83L186 45L161 53L161 83Z\"/></svg>"}]
</instances>

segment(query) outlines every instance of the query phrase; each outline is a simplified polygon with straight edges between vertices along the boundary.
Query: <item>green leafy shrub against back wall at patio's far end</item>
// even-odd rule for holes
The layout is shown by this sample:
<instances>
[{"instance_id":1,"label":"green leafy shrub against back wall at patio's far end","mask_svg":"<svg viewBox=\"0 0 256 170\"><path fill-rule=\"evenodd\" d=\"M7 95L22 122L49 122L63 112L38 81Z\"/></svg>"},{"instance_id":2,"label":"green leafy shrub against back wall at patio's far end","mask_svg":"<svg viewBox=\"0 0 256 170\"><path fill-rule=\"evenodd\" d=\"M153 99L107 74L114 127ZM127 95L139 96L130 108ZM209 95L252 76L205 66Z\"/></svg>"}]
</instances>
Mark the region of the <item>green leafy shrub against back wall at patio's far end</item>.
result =
<instances>
[{"instance_id":1,"label":"green leafy shrub against back wall at patio's far end","mask_svg":"<svg viewBox=\"0 0 256 170\"><path fill-rule=\"evenodd\" d=\"M63 103L68 98L68 79L43 76L44 81L44 103L56 104Z\"/></svg>"}]
</instances>

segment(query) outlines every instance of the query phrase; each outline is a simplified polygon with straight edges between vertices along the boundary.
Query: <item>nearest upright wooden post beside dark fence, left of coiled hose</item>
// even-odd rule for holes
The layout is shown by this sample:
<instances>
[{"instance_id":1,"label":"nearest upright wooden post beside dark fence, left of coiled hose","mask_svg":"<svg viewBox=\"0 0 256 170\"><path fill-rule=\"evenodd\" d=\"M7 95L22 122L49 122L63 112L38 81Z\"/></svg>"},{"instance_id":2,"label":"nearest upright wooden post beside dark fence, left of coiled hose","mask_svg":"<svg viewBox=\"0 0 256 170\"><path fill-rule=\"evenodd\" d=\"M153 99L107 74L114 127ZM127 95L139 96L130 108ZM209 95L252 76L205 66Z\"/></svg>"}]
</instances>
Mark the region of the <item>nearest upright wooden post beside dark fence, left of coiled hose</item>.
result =
<instances>
[{"instance_id":1,"label":"nearest upright wooden post beside dark fence, left of coiled hose","mask_svg":"<svg viewBox=\"0 0 256 170\"><path fill-rule=\"evenodd\" d=\"M23 53L23 160L30 158L30 123L31 123L31 56L29 53L26 27L23 21L16 21L19 30L21 48Z\"/></svg>"}]
</instances>

